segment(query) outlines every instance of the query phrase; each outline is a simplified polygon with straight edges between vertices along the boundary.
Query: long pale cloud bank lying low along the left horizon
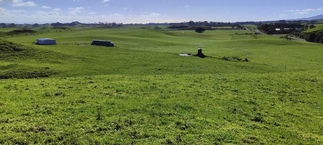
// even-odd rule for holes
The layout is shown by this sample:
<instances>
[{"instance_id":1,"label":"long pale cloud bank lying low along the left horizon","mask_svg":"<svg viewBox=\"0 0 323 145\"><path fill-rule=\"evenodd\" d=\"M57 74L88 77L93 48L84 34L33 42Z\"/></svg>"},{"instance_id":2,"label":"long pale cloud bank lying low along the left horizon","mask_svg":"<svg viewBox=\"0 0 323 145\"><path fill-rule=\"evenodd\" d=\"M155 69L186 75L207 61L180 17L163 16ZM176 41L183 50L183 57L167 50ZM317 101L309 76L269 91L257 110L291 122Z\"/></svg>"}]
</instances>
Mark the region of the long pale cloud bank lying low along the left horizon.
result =
<instances>
[{"instance_id":1,"label":"long pale cloud bank lying low along the left horizon","mask_svg":"<svg viewBox=\"0 0 323 145\"><path fill-rule=\"evenodd\" d=\"M87 13L86 13L87 14ZM7 11L5 15L0 16L3 23L19 23L19 24L43 24L52 22L70 23L79 21L82 23L94 23L94 22L119 22L119 23L175 23L187 21L185 19L172 18L171 16L160 15L159 17L140 17L139 15L122 15L122 14L111 14L111 15L63 15L58 12L34 12L23 13L21 15L9 14ZM28 18L28 19L25 19Z\"/></svg>"}]
</instances>

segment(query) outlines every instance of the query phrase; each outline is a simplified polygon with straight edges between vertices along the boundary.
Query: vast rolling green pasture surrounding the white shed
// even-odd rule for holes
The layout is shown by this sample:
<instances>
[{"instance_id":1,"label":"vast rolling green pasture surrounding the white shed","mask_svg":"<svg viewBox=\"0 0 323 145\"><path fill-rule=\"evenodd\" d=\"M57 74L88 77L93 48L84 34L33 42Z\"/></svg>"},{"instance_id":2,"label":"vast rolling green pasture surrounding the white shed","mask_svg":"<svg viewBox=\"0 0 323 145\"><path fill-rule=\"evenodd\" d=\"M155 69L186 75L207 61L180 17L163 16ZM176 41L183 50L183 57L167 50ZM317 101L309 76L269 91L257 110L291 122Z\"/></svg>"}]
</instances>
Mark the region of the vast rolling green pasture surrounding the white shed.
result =
<instances>
[{"instance_id":1,"label":"vast rolling green pasture surrounding the white shed","mask_svg":"<svg viewBox=\"0 0 323 145\"><path fill-rule=\"evenodd\" d=\"M236 35L246 30L34 30L0 29L0 144L323 143L322 44ZM211 57L178 55L198 48Z\"/></svg>"}]
</instances>

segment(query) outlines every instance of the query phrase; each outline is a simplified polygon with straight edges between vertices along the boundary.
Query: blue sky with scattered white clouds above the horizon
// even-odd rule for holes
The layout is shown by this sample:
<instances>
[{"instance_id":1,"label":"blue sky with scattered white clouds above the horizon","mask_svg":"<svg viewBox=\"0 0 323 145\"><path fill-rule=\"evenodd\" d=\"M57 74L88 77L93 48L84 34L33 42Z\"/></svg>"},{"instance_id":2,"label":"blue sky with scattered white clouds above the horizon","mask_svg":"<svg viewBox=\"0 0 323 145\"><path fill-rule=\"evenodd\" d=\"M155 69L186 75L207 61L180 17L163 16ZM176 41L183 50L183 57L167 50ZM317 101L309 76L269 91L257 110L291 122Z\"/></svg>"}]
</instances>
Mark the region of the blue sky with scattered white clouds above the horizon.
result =
<instances>
[{"instance_id":1,"label":"blue sky with scattered white clouds above the horizon","mask_svg":"<svg viewBox=\"0 0 323 145\"><path fill-rule=\"evenodd\" d=\"M322 0L0 0L0 23L267 21L316 16L322 8Z\"/></svg>"}]
</instances>

